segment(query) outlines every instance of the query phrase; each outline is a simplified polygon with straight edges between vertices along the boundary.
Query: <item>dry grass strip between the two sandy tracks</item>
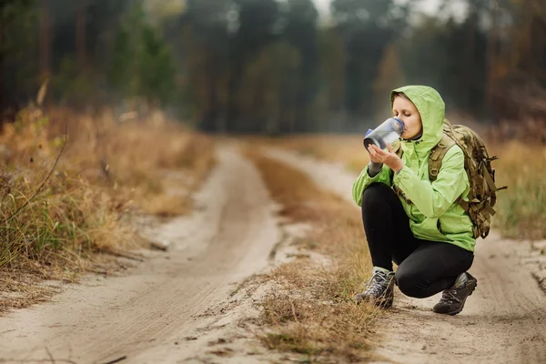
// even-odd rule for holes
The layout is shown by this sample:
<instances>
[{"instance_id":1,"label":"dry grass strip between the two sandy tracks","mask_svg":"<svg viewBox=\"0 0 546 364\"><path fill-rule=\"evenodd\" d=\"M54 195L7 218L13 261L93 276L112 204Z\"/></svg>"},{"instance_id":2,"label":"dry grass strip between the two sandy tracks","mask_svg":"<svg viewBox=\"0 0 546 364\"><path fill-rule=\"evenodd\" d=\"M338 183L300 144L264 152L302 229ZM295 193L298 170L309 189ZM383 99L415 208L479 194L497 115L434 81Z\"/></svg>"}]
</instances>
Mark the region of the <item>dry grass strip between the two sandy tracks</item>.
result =
<instances>
[{"instance_id":1,"label":"dry grass strip between the two sandy tracks","mask_svg":"<svg viewBox=\"0 0 546 364\"><path fill-rule=\"evenodd\" d=\"M359 210L321 190L302 172L248 152L282 214L313 225L298 244L325 257L283 264L271 275L275 285L263 303L262 337L270 349L305 354L309 361L361 361L369 358L369 323L376 312L351 298L371 271Z\"/></svg>"}]
</instances>

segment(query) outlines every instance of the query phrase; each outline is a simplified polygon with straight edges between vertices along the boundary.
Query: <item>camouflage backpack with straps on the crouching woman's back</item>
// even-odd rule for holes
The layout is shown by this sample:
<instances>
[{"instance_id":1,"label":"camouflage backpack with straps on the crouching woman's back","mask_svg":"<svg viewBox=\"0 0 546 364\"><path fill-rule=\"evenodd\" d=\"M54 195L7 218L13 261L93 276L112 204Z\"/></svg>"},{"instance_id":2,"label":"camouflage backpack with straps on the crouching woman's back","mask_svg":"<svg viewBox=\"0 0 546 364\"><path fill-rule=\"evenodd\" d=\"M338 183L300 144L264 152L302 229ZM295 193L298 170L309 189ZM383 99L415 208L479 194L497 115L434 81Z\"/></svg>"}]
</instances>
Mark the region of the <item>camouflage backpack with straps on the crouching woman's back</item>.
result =
<instances>
[{"instance_id":1,"label":"camouflage backpack with straps on the crouching woman's back","mask_svg":"<svg viewBox=\"0 0 546 364\"><path fill-rule=\"evenodd\" d=\"M490 219L495 215L493 207L497 202L497 191L507 188L495 186L495 169L491 167L491 162L499 157L490 157L483 139L468 126L451 125L446 119L443 132L440 143L430 151L430 182L438 177L441 161L450 147L459 146L464 153L464 169L469 177L470 191L468 201L459 197L456 202L470 216L474 225L474 238L486 238L490 233ZM398 148L397 154L401 157L401 148ZM399 187L395 186L394 189L400 197L411 203Z\"/></svg>"}]
</instances>

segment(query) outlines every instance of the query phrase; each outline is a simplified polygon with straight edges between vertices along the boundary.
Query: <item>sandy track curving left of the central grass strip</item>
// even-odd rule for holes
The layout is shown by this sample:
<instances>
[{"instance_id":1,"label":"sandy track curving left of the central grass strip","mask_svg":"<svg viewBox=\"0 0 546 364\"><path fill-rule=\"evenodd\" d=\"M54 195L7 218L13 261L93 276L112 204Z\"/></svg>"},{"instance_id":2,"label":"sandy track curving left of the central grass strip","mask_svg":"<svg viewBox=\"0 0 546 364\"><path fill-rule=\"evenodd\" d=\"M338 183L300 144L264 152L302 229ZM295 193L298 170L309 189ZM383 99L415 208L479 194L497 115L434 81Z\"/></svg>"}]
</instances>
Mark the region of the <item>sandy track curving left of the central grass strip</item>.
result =
<instances>
[{"instance_id":1,"label":"sandy track curving left of the central grass strip","mask_svg":"<svg viewBox=\"0 0 546 364\"><path fill-rule=\"evenodd\" d=\"M51 303L0 319L0 362L50 355L57 363L123 356L130 363L179 362L195 352L185 343L214 323L210 313L235 283L267 267L280 238L255 167L232 147L217 156L197 196L201 211L162 228L159 238L171 243L167 254L126 277L86 278Z\"/></svg>"}]
</instances>

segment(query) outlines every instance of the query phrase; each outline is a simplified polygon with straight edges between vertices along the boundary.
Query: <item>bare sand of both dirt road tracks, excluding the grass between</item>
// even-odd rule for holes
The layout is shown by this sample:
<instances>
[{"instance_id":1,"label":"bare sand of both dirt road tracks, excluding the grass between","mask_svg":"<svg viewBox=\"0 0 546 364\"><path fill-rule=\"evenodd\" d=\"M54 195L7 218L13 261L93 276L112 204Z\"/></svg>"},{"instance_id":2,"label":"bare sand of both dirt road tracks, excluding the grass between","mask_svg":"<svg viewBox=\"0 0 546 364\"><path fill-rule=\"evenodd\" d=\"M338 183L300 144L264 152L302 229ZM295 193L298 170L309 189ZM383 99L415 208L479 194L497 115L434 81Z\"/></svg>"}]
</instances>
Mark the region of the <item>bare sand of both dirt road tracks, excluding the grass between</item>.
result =
<instances>
[{"instance_id":1,"label":"bare sand of both dirt road tracks, excluding the grass between","mask_svg":"<svg viewBox=\"0 0 546 364\"><path fill-rule=\"evenodd\" d=\"M342 166L271 151L350 200ZM167 244L123 277L85 278L54 301L0 319L0 362L255 363L297 360L254 338L260 272L298 227L282 227L258 171L233 146L197 195L198 211L148 233ZM358 212L355 207L355 212ZM290 231L292 229L293 231ZM288 237L287 237L288 235ZM540 252L539 252L540 253ZM456 317L430 311L439 297L404 298L379 318L377 362L546 363L546 296L531 277L531 243L479 242L479 287ZM544 266L542 266L544 267Z\"/></svg>"}]
</instances>

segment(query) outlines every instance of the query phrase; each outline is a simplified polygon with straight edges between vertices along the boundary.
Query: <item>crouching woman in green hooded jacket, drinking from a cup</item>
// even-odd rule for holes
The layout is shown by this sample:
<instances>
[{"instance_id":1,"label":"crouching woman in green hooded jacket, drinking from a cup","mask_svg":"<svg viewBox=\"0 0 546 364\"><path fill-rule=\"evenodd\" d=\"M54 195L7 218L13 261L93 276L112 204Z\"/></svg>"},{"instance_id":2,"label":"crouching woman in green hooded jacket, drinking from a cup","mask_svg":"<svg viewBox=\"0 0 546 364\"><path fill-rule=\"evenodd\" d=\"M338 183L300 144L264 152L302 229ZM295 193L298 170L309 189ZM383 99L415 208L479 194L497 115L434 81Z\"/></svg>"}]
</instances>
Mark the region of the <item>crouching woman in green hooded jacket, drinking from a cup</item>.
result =
<instances>
[{"instance_id":1,"label":"crouching woman in green hooded jacket, drinking from a cup","mask_svg":"<svg viewBox=\"0 0 546 364\"><path fill-rule=\"evenodd\" d=\"M404 124L402 157L392 147L369 147L369 165L353 185L373 275L355 300L392 306L393 285L414 298L443 291L434 312L456 315L477 286L467 270L476 243L472 221L455 201L470 184L460 147L450 147L434 182L429 180L430 150L441 140L445 105L428 86L405 86L390 96L392 112ZM400 197L392 187L403 192ZM408 200L408 201L407 201ZM392 262L399 267L393 271Z\"/></svg>"}]
</instances>

